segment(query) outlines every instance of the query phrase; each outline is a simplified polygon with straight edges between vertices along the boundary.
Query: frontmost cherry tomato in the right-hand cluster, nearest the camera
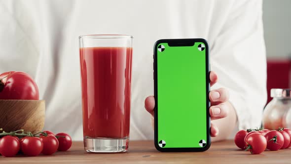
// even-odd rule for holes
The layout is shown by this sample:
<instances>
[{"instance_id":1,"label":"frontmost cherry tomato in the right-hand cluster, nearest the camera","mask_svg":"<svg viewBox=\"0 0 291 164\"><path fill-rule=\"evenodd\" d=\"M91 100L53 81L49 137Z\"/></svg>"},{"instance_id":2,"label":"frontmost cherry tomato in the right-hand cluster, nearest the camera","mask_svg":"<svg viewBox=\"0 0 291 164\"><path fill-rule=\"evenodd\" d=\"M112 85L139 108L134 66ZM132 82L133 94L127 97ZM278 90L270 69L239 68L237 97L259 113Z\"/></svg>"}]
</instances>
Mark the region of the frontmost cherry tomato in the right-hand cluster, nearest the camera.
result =
<instances>
[{"instance_id":1,"label":"frontmost cherry tomato in the right-hand cluster, nearest the camera","mask_svg":"<svg viewBox=\"0 0 291 164\"><path fill-rule=\"evenodd\" d=\"M267 140L260 133L252 133L247 136L245 146L252 154L260 154L265 151Z\"/></svg>"}]
</instances>

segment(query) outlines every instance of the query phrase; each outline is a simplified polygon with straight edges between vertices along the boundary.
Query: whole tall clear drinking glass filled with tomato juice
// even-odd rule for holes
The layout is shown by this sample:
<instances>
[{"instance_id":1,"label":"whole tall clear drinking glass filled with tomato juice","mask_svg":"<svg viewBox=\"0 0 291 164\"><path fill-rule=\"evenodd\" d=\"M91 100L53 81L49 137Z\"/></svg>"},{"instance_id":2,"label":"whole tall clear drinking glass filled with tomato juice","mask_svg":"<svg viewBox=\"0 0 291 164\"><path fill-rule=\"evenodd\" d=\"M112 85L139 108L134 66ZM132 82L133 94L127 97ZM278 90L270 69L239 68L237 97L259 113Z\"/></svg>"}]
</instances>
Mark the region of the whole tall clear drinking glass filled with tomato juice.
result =
<instances>
[{"instance_id":1,"label":"whole tall clear drinking glass filled with tomato juice","mask_svg":"<svg viewBox=\"0 0 291 164\"><path fill-rule=\"evenodd\" d=\"M129 142L132 36L79 37L87 152L125 152Z\"/></svg>"}]
</instances>

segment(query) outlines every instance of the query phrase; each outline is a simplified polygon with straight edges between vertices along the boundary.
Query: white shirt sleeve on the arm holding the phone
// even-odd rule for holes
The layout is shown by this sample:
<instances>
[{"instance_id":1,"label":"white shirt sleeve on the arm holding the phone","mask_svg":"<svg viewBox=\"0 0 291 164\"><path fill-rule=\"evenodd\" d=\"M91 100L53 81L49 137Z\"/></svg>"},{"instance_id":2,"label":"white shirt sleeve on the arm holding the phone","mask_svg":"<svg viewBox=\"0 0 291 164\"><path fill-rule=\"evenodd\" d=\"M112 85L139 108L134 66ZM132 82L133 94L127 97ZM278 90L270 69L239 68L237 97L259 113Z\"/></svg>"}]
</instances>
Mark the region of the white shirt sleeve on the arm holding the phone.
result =
<instances>
[{"instance_id":1,"label":"white shirt sleeve on the arm holding the phone","mask_svg":"<svg viewBox=\"0 0 291 164\"><path fill-rule=\"evenodd\" d=\"M210 54L218 74L212 89L229 90L239 129L260 127L267 98L261 0L234 2Z\"/></svg>"}]
</instances>

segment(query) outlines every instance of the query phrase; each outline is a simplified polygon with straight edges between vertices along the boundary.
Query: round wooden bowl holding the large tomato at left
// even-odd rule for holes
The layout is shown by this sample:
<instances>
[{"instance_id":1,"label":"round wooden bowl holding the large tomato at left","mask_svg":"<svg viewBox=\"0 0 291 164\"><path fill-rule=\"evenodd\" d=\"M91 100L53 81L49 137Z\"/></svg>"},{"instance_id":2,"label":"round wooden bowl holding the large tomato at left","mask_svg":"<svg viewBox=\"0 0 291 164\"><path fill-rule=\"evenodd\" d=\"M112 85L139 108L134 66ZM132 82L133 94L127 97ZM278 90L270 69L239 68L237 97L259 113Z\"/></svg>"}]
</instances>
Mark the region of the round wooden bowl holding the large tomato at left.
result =
<instances>
[{"instance_id":1,"label":"round wooden bowl holding the large tomato at left","mask_svg":"<svg viewBox=\"0 0 291 164\"><path fill-rule=\"evenodd\" d=\"M36 133L44 125L44 100L0 100L0 128Z\"/></svg>"}]
</instances>

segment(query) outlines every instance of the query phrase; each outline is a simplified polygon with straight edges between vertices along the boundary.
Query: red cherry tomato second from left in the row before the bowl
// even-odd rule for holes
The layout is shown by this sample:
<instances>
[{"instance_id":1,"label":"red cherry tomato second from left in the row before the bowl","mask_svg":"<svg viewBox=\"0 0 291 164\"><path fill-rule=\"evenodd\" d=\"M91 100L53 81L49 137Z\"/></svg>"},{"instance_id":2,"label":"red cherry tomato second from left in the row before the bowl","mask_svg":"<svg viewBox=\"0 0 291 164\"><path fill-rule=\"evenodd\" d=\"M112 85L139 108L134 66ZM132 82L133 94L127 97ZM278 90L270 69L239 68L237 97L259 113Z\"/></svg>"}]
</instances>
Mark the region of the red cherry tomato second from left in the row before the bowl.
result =
<instances>
[{"instance_id":1,"label":"red cherry tomato second from left in the row before the bowl","mask_svg":"<svg viewBox=\"0 0 291 164\"><path fill-rule=\"evenodd\" d=\"M38 137L24 137L20 145L22 152L27 156L37 156L43 149L43 143Z\"/></svg>"}]
</instances>

